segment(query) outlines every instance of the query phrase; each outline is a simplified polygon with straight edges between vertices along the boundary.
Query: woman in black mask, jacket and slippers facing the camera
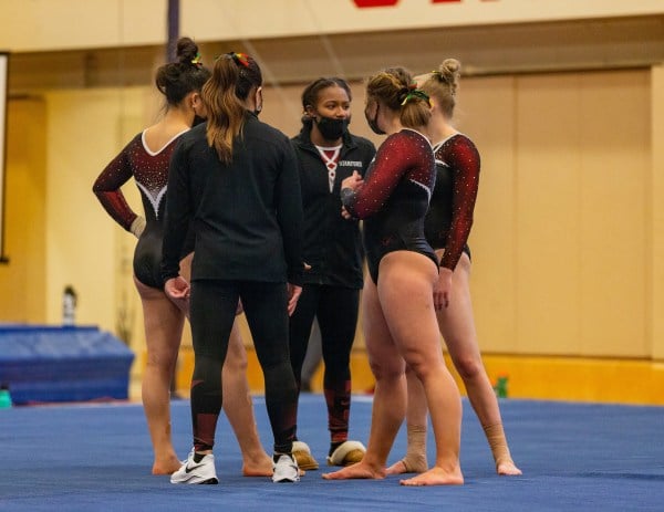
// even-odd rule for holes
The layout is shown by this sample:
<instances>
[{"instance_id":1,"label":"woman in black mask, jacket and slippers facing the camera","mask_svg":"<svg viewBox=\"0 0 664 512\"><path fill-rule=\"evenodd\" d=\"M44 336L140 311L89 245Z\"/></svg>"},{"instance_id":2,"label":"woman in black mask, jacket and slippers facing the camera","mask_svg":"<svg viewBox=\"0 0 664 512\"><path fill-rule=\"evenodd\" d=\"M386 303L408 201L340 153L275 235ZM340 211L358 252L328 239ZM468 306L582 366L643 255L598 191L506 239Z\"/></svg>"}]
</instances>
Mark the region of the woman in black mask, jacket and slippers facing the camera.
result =
<instances>
[{"instance_id":1,"label":"woman in black mask, jacket and slippers facing the camera","mask_svg":"<svg viewBox=\"0 0 664 512\"><path fill-rule=\"evenodd\" d=\"M330 430L326 460L332 466L357 462L364 454L361 442L349 440L350 356L364 253L357 220L341 216L340 185L353 171L364 176L375 147L349 133L351 100L351 88L342 79L310 83L302 92L302 130L292 139L302 187L305 270L302 295L290 320L290 357L300 388L311 326L318 318ZM318 469L304 441L293 443L293 454L301 469Z\"/></svg>"}]
</instances>

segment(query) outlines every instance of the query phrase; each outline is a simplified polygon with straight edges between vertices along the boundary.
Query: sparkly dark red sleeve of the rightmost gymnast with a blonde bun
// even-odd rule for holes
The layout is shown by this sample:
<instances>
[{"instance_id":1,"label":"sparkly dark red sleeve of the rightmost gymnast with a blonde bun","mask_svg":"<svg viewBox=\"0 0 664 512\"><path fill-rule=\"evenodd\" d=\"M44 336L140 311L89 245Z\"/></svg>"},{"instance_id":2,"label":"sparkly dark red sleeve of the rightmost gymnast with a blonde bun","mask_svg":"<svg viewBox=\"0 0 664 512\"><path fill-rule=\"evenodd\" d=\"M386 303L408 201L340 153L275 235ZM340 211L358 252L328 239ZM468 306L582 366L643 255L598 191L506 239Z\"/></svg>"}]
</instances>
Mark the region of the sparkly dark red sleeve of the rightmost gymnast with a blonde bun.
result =
<instances>
[{"instance_id":1,"label":"sparkly dark red sleeve of the rightmost gymnast with a blonde bun","mask_svg":"<svg viewBox=\"0 0 664 512\"><path fill-rule=\"evenodd\" d=\"M454 271L473 227L473 212L479 187L479 153L470 139L459 137L454 148L446 155L445 163L454 169L454 190L452 224L440 267Z\"/></svg>"}]
</instances>

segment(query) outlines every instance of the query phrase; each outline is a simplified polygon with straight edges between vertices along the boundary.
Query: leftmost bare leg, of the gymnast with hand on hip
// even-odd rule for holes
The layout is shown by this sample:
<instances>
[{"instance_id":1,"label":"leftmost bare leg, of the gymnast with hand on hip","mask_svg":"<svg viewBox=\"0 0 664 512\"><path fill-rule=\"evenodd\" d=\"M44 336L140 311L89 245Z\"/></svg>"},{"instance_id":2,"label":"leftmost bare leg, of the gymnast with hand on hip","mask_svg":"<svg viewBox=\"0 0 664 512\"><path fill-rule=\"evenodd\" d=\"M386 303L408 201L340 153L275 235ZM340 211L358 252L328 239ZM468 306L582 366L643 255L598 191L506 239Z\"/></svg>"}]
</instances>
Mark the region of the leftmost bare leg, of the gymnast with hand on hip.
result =
<instances>
[{"instance_id":1,"label":"leftmost bare leg, of the gymnast with hand on hip","mask_svg":"<svg viewBox=\"0 0 664 512\"><path fill-rule=\"evenodd\" d=\"M180 344L185 315L160 290L134 279L143 303L147 363L142 400L153 443L153 474L170 474L180 467L170 439L170 383Z\"/></svg>"}]
</instances>

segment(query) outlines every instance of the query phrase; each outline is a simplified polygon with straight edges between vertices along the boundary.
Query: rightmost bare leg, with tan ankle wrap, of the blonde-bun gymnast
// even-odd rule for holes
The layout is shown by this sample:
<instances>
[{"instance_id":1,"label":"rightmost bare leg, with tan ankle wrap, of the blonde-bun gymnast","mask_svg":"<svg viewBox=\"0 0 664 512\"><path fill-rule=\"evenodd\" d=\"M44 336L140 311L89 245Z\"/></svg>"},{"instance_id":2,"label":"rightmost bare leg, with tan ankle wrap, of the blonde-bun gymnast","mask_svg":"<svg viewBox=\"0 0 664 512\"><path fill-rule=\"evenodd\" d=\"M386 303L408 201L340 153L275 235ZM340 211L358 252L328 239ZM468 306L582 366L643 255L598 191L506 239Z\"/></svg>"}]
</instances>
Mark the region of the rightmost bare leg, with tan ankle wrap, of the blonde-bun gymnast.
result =
<instances>
[{"instance_id":1,"label":"rightmost bare leg, with tan ankle wrap, of the blonde-bun gymnast","mask_svg":"<svg viewBox=\"0 0 664 512\"><path fill-rule=\"evenodd\" d=\"M463 254L453 274L452 302L438 312L440 333L449 356L464 380L468 399L481 424L498 474L521 474L511 459L496 394L481 362L473 304L470 301L470 260Z\"/></svg>"}]
</instances>

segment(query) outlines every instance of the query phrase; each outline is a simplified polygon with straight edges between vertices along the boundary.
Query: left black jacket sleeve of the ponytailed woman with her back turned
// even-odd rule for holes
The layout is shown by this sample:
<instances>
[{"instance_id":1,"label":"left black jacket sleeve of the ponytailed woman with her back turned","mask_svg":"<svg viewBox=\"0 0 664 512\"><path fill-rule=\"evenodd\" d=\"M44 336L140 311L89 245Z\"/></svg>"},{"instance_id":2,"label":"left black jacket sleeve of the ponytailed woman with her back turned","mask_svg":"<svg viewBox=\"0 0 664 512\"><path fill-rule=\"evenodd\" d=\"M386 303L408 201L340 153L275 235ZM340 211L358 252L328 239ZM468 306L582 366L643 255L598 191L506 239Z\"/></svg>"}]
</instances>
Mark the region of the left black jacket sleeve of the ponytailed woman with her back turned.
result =
<instances>
[{"instance_id":1,"label":"left black jacket sleeve of the ponytailed woman with her back turned","mask_svg":"<svg viewBox=\"0 0 664 512\"><path fill-rule=\"evenodd\" d=\"M181 143L176 146L168 167L164 242L162 245L162 279L164 282L179 275L179 261L191 219L187 151Z\"/></svg>"}]
</instances>

